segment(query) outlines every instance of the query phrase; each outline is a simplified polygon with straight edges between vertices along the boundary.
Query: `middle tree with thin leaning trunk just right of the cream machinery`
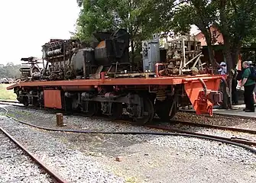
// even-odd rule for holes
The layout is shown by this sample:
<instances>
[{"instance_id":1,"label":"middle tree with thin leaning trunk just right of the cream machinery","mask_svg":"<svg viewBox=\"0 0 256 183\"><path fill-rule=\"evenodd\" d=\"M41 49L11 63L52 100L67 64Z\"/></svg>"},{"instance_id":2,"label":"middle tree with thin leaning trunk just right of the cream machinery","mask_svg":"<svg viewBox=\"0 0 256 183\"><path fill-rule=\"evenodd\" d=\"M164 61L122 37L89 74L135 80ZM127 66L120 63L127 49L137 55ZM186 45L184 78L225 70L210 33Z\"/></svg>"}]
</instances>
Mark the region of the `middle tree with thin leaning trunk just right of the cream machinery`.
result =
<instances>
[{"instance_id":1,"label":"middle tree with thin leaning trunk just right of the cream machinery","mask_svg":"<svg viewBox=\"0 0 256 183\"><path fill-rule=\"evenodd\" d=\"M173 9L169 13L172 15L171 18L161 19L163 24L161 30L164 32L173 30L175 33L189 34L191 25L195 24L199 27L206 38L209 61L213 69L215 69L215 60L212 45L215 43L215 37L212 35L210 27L216 20L215 10L215 4L209 3L207 0L183 0L178 4L173 4Z\"/></svg>"}]
</instances>

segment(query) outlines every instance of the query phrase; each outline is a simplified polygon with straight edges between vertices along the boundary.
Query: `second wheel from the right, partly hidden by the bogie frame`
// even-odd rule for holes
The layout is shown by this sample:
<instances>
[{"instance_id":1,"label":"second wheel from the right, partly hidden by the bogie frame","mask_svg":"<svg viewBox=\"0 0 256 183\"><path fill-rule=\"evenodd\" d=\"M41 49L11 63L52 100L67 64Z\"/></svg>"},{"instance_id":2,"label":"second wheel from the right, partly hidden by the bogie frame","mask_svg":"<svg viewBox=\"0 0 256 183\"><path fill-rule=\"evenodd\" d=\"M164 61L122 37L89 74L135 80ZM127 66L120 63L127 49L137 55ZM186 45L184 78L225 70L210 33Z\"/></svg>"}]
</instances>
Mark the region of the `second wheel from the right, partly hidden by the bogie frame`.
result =
<instances>
[{"instance_id":1,"label":"second wheel from the right, partly hidden by the bogie frame","mask_svg":"<svg viewBox=\"0 0 256 183\"><path fill-rule=\"evenodd\" d=\"M134 117L135 124L147 124L150 123L151 120L153 120L154 117L154 105L152 101L149 98L143 98L143 104L144 104L144 112L143 117L138 118Z\"/></svg>"}]
</instances>

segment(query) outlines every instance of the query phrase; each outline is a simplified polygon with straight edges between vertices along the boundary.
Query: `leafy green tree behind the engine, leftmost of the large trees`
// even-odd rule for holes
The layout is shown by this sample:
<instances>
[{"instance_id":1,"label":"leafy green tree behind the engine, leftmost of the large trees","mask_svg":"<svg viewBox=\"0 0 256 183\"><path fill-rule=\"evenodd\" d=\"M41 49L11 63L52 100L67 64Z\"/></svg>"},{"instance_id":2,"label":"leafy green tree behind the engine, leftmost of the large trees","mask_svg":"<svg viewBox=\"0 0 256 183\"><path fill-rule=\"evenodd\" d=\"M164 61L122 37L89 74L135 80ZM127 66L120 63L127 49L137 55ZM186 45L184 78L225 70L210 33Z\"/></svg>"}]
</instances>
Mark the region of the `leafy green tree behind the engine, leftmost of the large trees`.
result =
<instances>
[{"instance_id":1,"label":"leafy green tree behind the engine, leftmost of the large trees","mask_svg":"<svg viewBox=\"0 0 256 183\"><path fill-rule=\"evenodd\" d=\"M76 37L90 41L96 30L125 28L131 36L131 63L141 53L141 40L151 37L160 27L173 0L78 0L81 7Z\"/></svg>"}]
</instances>

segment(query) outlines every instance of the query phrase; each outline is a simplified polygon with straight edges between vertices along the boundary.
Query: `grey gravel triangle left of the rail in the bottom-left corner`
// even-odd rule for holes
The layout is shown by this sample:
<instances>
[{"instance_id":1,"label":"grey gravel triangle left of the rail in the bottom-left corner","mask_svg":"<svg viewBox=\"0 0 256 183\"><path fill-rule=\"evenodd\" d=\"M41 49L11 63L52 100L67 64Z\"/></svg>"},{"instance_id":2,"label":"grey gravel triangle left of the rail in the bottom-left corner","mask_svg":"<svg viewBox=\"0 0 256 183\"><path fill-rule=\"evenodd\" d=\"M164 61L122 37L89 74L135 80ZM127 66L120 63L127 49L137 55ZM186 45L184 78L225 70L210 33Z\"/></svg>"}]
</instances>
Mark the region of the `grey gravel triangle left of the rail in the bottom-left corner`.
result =
<instances>
[{"instance_id":1,"label":"grey gravel triangle left of the rail in the bottom-left corner","mask_svg":"<svg viewBox=\"0 0 256 183\"><path fill-rule=\"evenodd\" d=\"M53 182L2 131L0 139L0 182Z\"/></svg>"}]
</instances>

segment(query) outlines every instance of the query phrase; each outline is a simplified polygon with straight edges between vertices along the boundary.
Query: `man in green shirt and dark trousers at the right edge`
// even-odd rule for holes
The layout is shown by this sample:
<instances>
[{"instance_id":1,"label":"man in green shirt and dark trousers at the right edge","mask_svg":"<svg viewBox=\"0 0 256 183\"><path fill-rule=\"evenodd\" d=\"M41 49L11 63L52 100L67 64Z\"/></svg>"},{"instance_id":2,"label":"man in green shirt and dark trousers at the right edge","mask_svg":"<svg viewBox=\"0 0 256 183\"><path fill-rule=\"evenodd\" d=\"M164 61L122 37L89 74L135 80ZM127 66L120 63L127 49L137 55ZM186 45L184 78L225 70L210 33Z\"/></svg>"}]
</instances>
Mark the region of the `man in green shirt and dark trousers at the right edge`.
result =
<instances>
[{"instance_id":1,"label":"man in green shirt and dark trousers at the right edge","mask_svg":"<svg viewBox=\"0 0 256 183\"><path fill-rule=\"evenodd\" d=\"M250 63L248 61L243 62L243 68L245 69L245 72L241 76L241 87L244 86L245 92L244 92L244 100L245 100L245 112L254 112L254 98L253 98L253 92L255 87L255 81L253 79L250 79L251 75L251 69L250 69Z\"/></svg>"}]
</instances>

